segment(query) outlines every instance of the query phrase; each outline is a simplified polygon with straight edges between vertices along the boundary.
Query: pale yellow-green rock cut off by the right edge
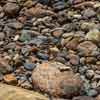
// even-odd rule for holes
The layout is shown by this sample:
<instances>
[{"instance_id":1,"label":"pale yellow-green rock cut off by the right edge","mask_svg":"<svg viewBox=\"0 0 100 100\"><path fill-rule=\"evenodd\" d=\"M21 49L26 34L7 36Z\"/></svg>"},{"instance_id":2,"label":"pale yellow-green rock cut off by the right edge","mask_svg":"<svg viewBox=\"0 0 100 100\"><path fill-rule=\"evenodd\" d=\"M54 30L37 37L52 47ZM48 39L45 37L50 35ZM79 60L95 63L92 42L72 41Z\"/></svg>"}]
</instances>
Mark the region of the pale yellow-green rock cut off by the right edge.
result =
<instances>
[{"instance_id":1,"label":"pale yellow-green rock cut off by the right edge","mask_svg":"<svg viewBox=\"0 0 100 100\"><path fill-rule=\"evenodd\" d=\"M100 42L100 31L98 29L92 29L86 34L85 38L94 42Z\"/></svg>"}]
</instances>

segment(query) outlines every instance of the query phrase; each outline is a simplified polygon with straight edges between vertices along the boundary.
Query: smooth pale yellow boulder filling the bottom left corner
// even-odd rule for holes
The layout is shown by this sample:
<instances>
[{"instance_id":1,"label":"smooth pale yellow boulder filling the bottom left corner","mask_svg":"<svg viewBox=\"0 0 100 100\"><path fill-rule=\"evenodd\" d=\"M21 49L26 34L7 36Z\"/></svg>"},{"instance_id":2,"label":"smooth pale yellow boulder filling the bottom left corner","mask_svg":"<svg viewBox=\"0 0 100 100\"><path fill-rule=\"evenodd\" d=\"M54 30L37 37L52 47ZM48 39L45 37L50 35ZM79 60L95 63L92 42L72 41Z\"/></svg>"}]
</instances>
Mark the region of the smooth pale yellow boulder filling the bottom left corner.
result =
<instances>
[{"instance_id":1,"label":"smooth pale yellow boulder filling the bottom left corner","mask_svg":"<svg viewBox=\"0 0 100 100\"><path fill-rule=\"evenodd\" d=\"M45 96L15 86L0 84L0 100L49 100Z\"/></svg>"}]
</instances>

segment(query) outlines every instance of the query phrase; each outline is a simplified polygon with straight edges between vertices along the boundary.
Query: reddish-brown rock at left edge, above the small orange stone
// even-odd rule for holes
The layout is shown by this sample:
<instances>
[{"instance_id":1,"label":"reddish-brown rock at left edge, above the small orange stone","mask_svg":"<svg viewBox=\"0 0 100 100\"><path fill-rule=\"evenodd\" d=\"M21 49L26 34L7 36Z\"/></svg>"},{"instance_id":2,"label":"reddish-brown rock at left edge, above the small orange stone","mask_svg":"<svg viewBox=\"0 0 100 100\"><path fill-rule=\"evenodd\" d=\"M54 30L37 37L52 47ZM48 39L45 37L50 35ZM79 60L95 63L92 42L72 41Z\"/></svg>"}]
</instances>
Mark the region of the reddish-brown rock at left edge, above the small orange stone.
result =
<instances>
[{"instance_id":1,"label":"reddish-brown rock at left edge, above the small orange stone","mask_svg":"<svg viewBox=\"0 0 100 100\"><path fill-rule=\"evenodd\" d=\"M3 74L12 72L13 68L3 58L0 58L0 72Z\"/></svg>"}]
</instances>

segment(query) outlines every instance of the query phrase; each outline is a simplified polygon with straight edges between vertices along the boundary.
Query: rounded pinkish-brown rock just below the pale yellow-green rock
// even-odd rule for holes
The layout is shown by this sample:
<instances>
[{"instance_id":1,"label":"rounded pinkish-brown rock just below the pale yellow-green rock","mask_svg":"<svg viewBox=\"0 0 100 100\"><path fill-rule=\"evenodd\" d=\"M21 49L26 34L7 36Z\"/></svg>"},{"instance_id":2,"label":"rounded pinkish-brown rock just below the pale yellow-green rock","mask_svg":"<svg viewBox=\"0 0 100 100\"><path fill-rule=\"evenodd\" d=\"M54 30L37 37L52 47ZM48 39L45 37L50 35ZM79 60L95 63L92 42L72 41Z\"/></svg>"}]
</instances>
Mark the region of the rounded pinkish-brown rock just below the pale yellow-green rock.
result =
<instances>
[{"instance_id":1,"label":"rounded pinkish-brown rock just below the pale yellow-green rock","mask_svg":"<svg viewBox=\"0 0 100 100\"><path fill-rule=\"evenodd\" d=\"M80 55L83 56L93 56L95 51L97 51L97 46L91 41L81 42L77 47Z\"/></svg>"}]
</instances>

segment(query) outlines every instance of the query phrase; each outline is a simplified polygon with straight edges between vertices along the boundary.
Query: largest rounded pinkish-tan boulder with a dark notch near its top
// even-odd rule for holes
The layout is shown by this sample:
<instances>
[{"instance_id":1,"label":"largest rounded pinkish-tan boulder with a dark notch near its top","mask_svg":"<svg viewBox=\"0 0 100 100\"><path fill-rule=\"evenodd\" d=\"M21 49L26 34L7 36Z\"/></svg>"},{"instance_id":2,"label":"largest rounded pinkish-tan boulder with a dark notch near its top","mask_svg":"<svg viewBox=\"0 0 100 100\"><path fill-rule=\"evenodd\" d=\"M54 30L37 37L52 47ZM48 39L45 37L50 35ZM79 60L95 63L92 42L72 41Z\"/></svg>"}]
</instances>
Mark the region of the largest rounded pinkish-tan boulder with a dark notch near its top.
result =
<instances>
[{"instance_id":1,"label":"largest rounded pinkish-tan boulder with a dark notch near its top","mask_svg":"<svg viewBox=\"0 0 100 100\"><path fill-rule=\"evenodd\" d=\"M59 62L38 64L32 74L37 89L56 97L70 98L79 95L82 82L69 66Z\"/></svg>"}]
</instances>

